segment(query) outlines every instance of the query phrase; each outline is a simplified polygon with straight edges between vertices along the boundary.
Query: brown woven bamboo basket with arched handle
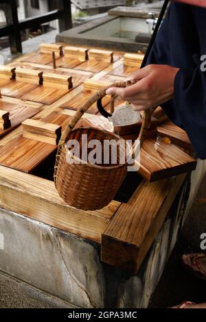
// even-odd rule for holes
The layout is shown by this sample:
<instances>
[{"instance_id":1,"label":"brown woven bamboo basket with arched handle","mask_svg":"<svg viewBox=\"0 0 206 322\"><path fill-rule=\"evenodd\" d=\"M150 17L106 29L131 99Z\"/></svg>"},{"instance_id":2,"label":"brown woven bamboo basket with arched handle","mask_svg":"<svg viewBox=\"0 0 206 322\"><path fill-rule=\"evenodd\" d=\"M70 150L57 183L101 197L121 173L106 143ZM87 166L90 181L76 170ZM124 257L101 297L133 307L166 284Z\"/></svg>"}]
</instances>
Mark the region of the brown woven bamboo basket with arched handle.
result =
<instances>
[{"instance_id":1,"label":"brown woven bamboo basket with arched handle","mask_svg":"<svg viewBox=\"0 0 206 322\"><path fill-rule=\"evenodd\" d=\"M128 164L91 164L67 162L67 146L69 140L76 139L80 141L82 134L87 134L88 142L91 139L98 139L102 143L104 140L123 140L119 136L96 128L78 128L73 129L80 120L84 112L86 112L95 101L102 99L106 95L106 90L110 87L126 87L131 82L119 82L111 84L96 92L77 110L69 121L69 125L62 133L58 144L58 152L56 154L56 164L54 168L54 182L60 197L73 206L82 210L98 210L104 208L112 201L119 190L127 173ZM139 134L140 145L142 144L150 122L150 112L144 112L144 118ZM76 156L74 156L76 158ZM78 160L80 161L80 160Z\"/></svg>"}]
</instances>

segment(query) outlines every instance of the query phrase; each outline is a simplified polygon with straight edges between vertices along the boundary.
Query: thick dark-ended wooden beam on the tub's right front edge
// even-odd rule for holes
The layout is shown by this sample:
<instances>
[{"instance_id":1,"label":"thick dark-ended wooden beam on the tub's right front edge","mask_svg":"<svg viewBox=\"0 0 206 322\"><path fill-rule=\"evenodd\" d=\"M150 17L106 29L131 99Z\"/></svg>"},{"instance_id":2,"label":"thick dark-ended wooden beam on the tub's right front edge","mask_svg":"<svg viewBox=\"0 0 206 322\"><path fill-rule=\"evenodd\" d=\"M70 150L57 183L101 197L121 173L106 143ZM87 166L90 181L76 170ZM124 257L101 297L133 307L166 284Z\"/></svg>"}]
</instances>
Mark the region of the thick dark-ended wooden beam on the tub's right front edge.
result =
<instances>
[{"instance_id":1,"label":"thick dark-ended wooden beam on the tub's right front edge","mask_svg":"<svg viewBox=\"0 0 206 322\"><path fill-rule=\"evenodd\" d=\"M185 175L141 182L102 234L102 261L136 274L172 206Z\"/></svg>"}]
</instances>

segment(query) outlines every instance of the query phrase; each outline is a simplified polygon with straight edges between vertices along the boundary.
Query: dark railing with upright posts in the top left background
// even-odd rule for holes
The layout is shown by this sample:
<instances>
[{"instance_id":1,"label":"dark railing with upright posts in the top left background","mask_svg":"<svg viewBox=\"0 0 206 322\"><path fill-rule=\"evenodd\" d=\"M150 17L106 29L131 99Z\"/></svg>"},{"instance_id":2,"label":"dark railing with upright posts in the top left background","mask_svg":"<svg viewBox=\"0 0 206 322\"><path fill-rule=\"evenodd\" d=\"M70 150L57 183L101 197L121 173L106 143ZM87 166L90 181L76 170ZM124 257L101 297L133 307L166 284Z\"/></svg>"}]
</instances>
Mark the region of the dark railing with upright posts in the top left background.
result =
<instances>
[{"instance_id":1,"label":"dark railing with upright posts in the top left background","mask_svg":"<svg viewBox=\"0 0 206 322\"><path fill-rule=\"evenodd\" d=\"M10 50L12 53L22 53L21 31L38 27L43 23L58 19L60 32L72 27L71 1L58 0L58 10L53 10L32 16L19 21L16 0L0 0L0 4L5 3L7 24L0 27L0 37L9 36Z\"/></svg>"}]
</instances>

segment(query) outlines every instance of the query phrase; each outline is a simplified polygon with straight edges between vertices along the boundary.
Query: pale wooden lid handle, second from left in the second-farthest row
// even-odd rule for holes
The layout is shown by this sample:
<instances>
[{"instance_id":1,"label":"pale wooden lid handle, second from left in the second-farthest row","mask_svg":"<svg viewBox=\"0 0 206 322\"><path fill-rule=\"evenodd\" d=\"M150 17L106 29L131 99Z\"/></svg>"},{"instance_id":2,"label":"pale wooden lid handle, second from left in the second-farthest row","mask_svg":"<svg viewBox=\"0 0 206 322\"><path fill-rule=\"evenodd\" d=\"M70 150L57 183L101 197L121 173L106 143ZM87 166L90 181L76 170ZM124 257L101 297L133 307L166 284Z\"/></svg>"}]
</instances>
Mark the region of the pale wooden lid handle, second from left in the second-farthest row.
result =
<instances>
[{"instance_id":1,"label":"pale wooden lid handle, second from left in the second-farthest row","mask_svg":"<svg viewBox=\"0 0 206 322\"><path fill-rule=\"evenodd\" d=\"M16 82L23 82L28 84L43 84L43 72L34 69L16 68Z\"/></svg>"}]
</instances>

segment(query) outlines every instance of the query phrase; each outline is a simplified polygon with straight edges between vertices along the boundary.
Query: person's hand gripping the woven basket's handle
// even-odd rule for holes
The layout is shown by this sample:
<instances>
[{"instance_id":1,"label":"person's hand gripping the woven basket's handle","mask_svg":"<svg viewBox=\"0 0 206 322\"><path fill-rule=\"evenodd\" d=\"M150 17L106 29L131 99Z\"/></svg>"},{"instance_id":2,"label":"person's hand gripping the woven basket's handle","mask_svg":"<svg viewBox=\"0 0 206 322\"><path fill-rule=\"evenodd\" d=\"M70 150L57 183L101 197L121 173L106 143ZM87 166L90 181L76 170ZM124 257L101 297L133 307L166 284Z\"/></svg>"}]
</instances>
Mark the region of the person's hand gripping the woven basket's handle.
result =
<instances>
[{"instance_id":1,"label":"person's hand gripping the woven basket's handle","mask_svg":"<svg viewBox=\"0 0 206 322\"><path fill-rule=\"evenodd\" d=\"M150 64L133 75L134 85L108 88L106 94L119 95L133 104L135 110L155 108L174 96L174 77L178 71L172 66Z\"/></svg>"}]
</instances>

